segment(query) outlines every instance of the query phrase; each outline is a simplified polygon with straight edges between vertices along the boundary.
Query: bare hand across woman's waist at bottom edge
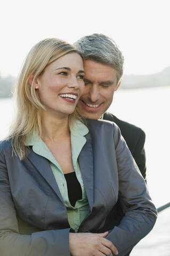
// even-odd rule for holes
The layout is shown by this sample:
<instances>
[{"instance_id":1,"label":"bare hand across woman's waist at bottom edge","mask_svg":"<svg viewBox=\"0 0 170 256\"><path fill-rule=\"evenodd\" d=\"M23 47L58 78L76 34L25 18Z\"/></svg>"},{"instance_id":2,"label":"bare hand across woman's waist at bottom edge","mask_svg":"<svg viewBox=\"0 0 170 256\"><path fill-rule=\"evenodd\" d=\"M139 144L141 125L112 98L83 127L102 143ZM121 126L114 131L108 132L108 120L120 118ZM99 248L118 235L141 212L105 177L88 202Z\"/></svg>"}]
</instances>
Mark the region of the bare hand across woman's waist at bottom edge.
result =
<instances>
[{"instance_id":1,"label":"bare hand across woman's waist at bottom edge","mask_svg":"<svg viewBox=\"0 0 170 256\"><path fill-rule=\"evenodd\" d=\"M72 256L112 256L118 251L114 244L104 238L108 231L100 234L69 233L69 247Z\"/></svg>"}]
</instances>

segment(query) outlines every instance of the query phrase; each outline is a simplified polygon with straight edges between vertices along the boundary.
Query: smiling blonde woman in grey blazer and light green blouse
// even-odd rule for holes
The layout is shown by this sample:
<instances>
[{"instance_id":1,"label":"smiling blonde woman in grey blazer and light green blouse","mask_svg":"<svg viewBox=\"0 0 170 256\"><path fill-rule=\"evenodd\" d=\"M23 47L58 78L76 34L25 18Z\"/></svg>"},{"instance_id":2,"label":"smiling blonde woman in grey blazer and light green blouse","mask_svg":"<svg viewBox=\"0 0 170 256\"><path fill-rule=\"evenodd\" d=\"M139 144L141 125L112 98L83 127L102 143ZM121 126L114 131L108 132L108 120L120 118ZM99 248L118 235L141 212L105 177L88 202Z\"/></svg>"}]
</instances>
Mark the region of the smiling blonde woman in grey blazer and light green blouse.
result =
<instances>
[{"instance_id":1,"label":"smiling blonde woman in grey blazer and light green blouse","mask_svg":"<svg viewBox=\"0 0 170 256\"><path fill-rule=\"evenodd\" d=\"M39 42L26 58L17 117L0 145L2 256L125 255L155 223L118 127L81 122L83 78L82 56L59 39ZM115 226L118 196L125 217Z\"/></svg>"}]
</instances>

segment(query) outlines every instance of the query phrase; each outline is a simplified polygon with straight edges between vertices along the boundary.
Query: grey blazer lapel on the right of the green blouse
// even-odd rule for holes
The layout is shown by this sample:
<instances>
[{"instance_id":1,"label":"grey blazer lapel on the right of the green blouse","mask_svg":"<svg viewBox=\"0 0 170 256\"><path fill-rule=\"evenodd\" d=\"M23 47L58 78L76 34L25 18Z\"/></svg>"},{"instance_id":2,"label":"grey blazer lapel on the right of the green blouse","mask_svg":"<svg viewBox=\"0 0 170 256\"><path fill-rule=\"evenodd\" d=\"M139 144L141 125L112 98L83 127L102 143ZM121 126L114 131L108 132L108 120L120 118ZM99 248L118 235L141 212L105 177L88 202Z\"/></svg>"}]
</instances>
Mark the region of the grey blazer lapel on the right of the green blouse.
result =
<instances>
[{"instance_id":1,"label":"grey blazer lapel on the right of the green blouse","mask_svg":"<svg viewBox=\"0 0 170 256\"><path fill-rule=\"evenodd\" d=\"M90 133L85 135L86 143L79 154L78 162L82 173L82 179L90 205L90 210L93 207L93 148L91 143Z\"/></svg>"}]
</instances>

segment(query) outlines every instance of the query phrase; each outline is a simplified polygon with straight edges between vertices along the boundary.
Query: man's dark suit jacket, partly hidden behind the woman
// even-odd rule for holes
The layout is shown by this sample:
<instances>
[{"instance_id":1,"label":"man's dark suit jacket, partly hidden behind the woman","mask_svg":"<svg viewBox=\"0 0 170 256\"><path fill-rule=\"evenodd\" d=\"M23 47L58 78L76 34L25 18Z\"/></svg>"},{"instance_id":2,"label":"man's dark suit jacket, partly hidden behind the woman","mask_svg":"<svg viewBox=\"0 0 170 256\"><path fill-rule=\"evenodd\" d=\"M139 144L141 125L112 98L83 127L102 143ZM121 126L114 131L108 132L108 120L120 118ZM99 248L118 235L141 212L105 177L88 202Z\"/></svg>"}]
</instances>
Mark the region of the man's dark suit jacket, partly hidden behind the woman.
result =
<instances>
[{"instance_id":1,"label":"man's dark suit jacket, partly hidden behind the woman","mask_svg":"<svg viewBox=\"0 0 170 256\"><path fill-rule=\"evenodd\" d=\"M122 133L127 143L127 146L131 151L131 154L135 159L135 162L139 167L139 170L143 178L146 181L146 165L145 165L146 159L145 159L145 151L144 151L145 133L142 131L141 128L133 124L129 124L125 121L122 121L109 112L106 112L104 114L103 119L109 120L118 125L120 132ZM115 216L114 223L110 223L110 222L106 223L108 229L110 229L112 226L118 225L124 216L124 213L119 201L115 205L114 209L110 212L110 215L112 214L114 214ZM128 252L126 256L128 256L129 253L130 252Z\"/></svg>"}]
</instances>

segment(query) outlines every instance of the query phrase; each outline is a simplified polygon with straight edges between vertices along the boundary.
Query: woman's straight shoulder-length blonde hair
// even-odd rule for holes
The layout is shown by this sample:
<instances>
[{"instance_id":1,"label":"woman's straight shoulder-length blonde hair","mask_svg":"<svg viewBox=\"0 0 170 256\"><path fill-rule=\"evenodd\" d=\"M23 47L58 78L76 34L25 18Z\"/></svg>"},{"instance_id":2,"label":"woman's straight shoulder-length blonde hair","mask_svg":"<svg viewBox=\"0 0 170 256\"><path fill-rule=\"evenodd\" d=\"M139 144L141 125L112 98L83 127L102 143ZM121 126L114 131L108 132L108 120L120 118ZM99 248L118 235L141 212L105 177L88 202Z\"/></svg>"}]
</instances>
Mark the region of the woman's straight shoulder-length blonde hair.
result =
<instances>
[{"instance_id":1,"label":"woman's straight shoulder-length blonde hair","mask_svg":"<svg viewBox=\"0 0 170 256\"><path fill-rule=\"evenodd\" d=\"M30 132L38 131L39 135L42 132L41 110L45 107L39 100L34 81L37 76L43 74L45 68L53 61L71 52L76 52L82 57L82 54L67 42L58 38L47 38L33 46L23 63L18 77L17 90L15 91L17 94L17 115L7 138L12 139L12 154L17 154L20 160L25 157L25 142ZM34 78L30 84L29 78L33 74ZM76 108L74 113L69 115L69 126L75 119L80 118L81 115Z\"/></svg>"}]
</instances>

